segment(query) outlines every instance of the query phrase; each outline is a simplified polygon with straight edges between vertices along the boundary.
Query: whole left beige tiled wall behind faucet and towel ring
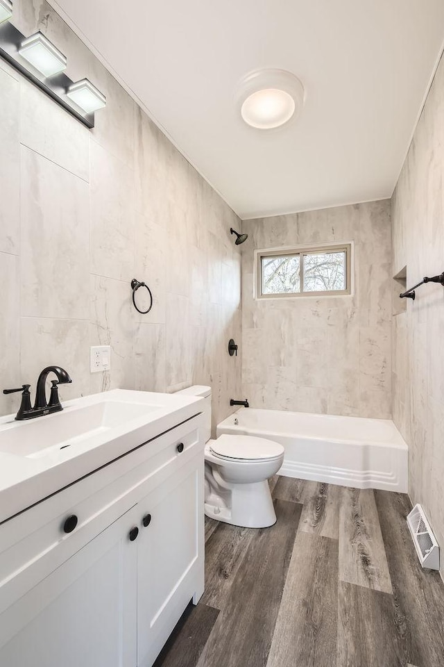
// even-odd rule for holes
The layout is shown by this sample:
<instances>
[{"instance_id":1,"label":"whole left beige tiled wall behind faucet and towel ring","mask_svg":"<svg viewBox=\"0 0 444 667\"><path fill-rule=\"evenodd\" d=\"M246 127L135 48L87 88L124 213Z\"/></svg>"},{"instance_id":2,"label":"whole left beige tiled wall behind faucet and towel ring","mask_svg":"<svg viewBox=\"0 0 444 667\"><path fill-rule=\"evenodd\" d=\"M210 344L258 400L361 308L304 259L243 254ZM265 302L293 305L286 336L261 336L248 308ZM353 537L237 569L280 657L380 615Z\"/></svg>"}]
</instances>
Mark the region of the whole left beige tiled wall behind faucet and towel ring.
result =
<instances>
[{"instance_id":1,"label":"whole left beige tiled wall behind faucet and towel ring","mask_svg":"<svg viewBox=\"0 0 444 667\"><path fill-rule=\"evenodd\" d=\"M64 400L210 384L217 422L241 384L227 351L241 338L239 219L47 3L14 9L108 104L89 131L0 62L0 388L35 389L55 363L73 379ZM133 277L153 291L148 315ZM89 373L90 345L112 346L110 372ZM18 405L0 394L1 414Z\"/></svg>"}]
</instances>

